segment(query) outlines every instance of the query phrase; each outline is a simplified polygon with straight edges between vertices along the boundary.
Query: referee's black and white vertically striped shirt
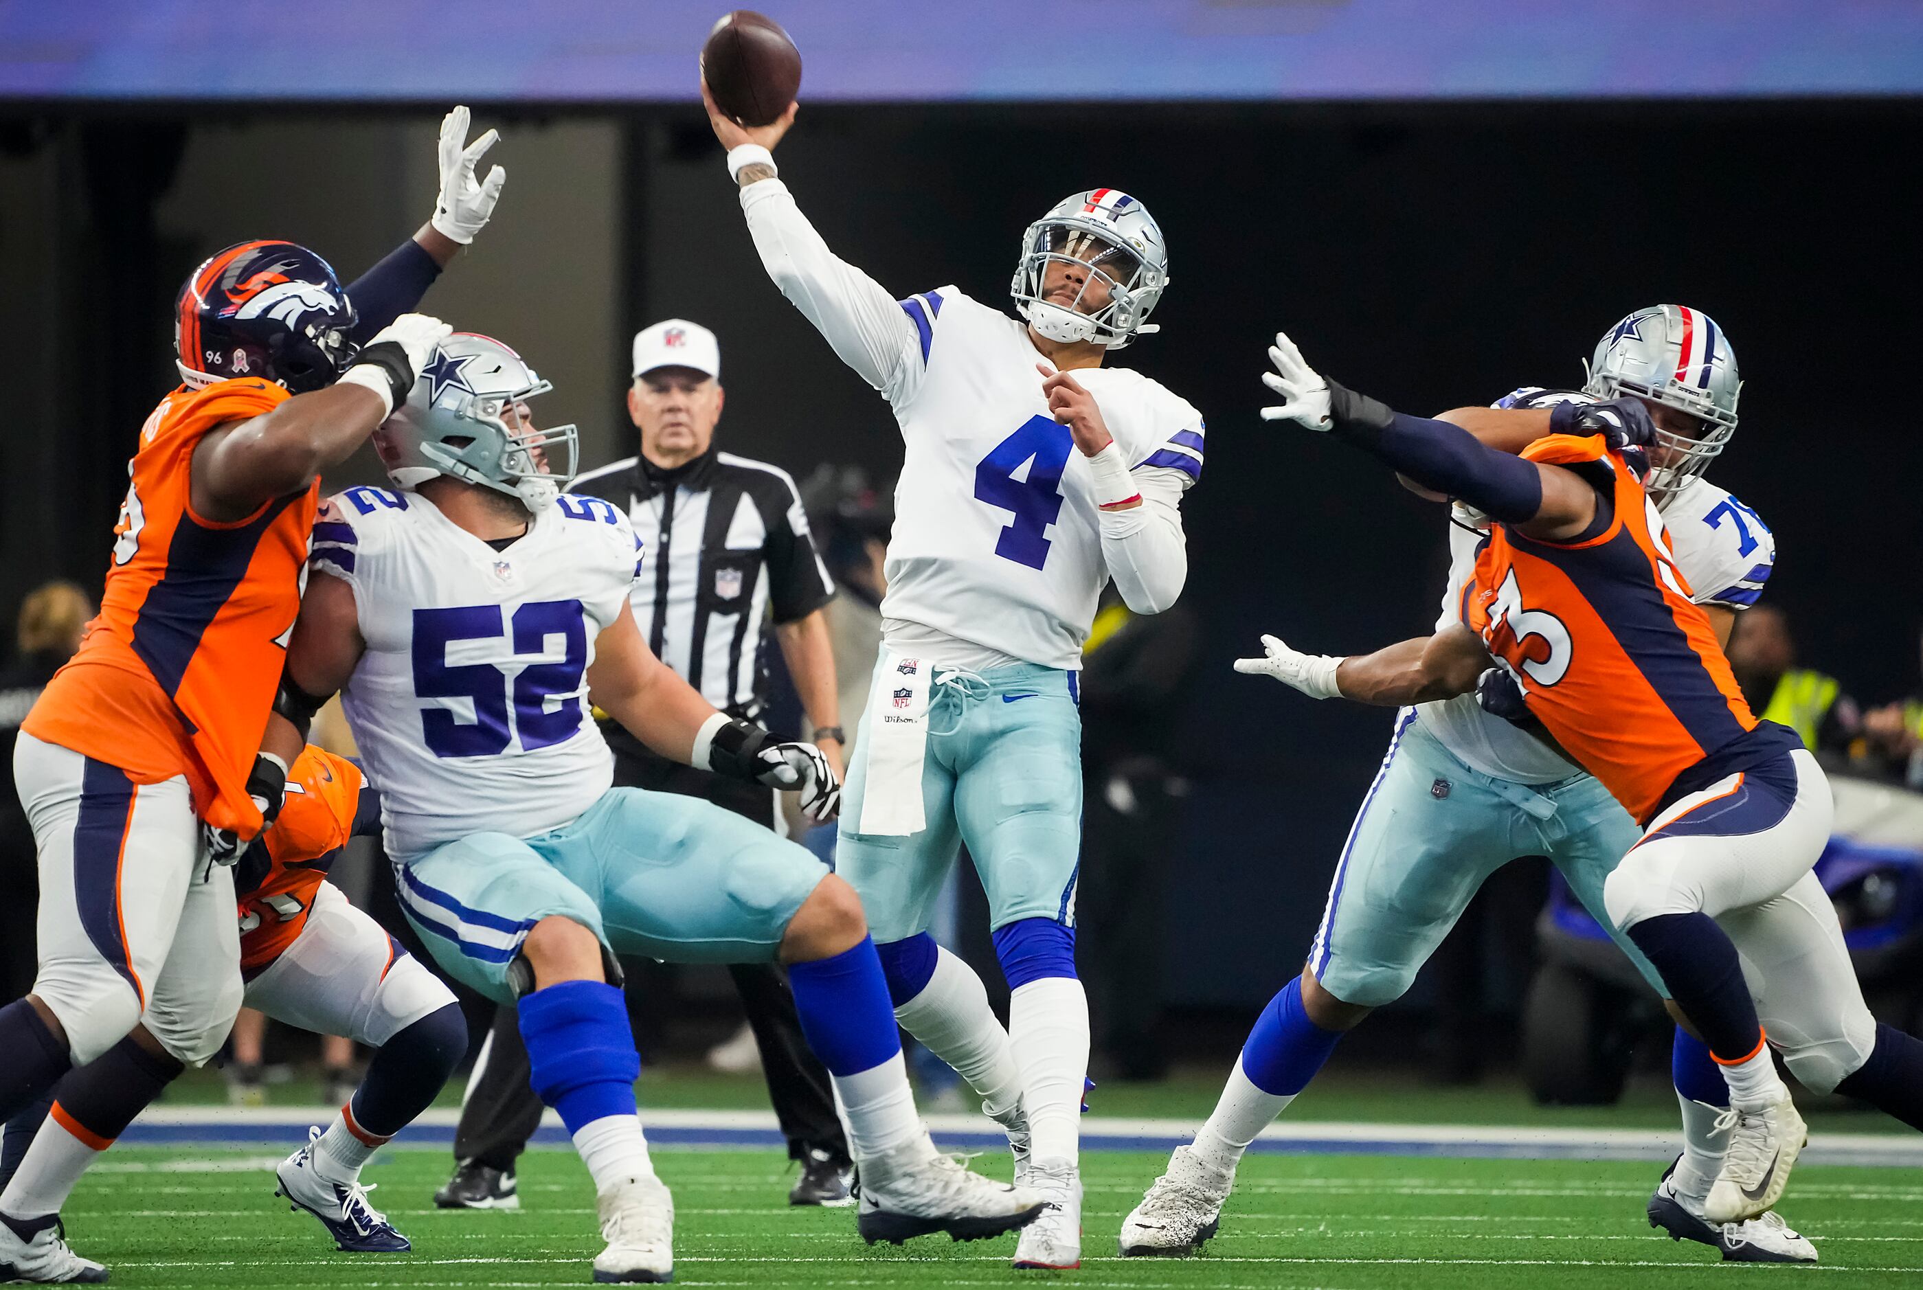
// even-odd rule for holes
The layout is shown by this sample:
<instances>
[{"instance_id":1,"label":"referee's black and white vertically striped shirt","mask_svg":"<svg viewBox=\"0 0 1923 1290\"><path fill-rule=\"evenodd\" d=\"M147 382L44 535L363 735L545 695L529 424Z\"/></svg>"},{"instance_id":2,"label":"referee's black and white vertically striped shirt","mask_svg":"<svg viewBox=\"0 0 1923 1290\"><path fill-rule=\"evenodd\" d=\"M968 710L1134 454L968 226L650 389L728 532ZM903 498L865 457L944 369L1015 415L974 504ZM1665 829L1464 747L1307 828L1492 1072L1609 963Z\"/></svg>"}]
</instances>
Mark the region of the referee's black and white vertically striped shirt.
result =
<instances>
[{"instance_id":1,"label":"referee's black and white vertically striped shirt","mask_svg":"<svg viewBox=\"0 0 1923 1290\"><path fill-rule=\"evenodd\" d=\"M794 479L710 448L673 471L623 458L569 492L627 509L642 552L629 602L654 654L715 707L758 715L769 608L792 623L835 598Z\"/></svg>"}]
</instances>

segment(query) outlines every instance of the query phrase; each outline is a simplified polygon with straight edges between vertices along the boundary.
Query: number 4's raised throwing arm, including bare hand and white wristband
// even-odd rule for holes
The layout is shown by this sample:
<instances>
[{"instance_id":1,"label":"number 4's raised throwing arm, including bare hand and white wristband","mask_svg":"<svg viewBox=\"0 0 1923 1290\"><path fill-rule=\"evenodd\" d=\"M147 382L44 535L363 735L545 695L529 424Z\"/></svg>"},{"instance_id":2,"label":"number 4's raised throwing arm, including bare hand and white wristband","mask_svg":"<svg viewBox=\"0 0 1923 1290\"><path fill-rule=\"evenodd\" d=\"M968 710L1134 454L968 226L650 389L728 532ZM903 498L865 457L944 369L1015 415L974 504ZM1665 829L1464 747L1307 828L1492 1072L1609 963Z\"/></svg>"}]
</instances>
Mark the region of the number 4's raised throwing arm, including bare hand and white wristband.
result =
<instances>
[{"instance_id":1,"label":"number 4's raised throwing arm, including bare hand and white wristband","mask_svg":"<svg viewBox=\"0 0 1923 1290\"><path fill-rule=\"evenodd\" d=\"M844 363L888 402L900 402L921 373L915 325L881 283L829 250L775 177L771 150L794 125L796 104L788 104L773 125L748 127L721 113L706 81L702 102L715 138L727 148L729 173L740 185L740 210L767 275Z\"/></svg>"}]
</instances>

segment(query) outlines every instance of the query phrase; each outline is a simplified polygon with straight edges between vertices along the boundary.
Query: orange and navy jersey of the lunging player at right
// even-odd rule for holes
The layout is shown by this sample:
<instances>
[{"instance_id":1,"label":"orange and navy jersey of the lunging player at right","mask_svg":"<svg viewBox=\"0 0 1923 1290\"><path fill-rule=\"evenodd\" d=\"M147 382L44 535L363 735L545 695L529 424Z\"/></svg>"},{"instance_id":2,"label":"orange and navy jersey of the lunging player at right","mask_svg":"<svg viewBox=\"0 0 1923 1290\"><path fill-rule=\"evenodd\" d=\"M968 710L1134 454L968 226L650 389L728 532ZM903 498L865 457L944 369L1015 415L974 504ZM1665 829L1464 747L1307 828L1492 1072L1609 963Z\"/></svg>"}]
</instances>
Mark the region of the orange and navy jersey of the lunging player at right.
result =
<instances>
[{"instance_id":1,"label":"orange and navy jersey of the lunging player at right","mask_svg":"<svg viewBox=\"0 0 1923 1290\"><path fill-rule=\"evenodd\" d=\"M1742 700L1661 515L1600 434L1523 456L1581 467L1611 506L1602 533L1538 542L1492 525L1467 625L1515 673L1548 732L1636 819L1796 746Z\"/></svg>"}]
</instances>

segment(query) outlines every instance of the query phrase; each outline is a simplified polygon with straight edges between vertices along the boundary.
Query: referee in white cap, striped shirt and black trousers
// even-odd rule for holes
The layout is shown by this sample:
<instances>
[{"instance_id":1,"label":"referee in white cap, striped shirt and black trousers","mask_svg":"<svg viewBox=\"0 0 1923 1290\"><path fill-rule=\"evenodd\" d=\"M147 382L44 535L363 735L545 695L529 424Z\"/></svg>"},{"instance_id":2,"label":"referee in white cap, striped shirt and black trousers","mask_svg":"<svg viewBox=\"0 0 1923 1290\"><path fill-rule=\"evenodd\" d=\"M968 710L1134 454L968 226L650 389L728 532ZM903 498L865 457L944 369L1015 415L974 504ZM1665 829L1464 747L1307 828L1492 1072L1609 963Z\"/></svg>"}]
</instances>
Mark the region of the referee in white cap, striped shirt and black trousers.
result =
<instances>
[{"instance_id":1,"label":"referee in white cap, striped shirt and black trousers","mask_svg":"<svg viewBox=\"0 0 1923 1290\"><path fill-rule=\"evenodd\" d=\"M835 584L815 554L800 494L787 471L713 446L721 419L721 348L698 323L669 319L635 336L627 411L640 454L588 471L573 492L629 513L642 563L631 602L654 654L702 696L756 721L767 704L760 652L763 625L781 646L813 727L813 742L842 771L835 656L821 608ZM619 786L706 798L773 829L779 794L669 761L615 723L602 723ZM775 1117L802 1177L794 1205L848 1203L848 1144L835 1115L829 1075L808 1052L794 996L771 963L729 967L762 1050ZM435 1203L515 1207L513 1161L540 1123L527 1050L513 1009L498 1009L454 1138L454 1178Z\"/></svg>"}]
</instances>

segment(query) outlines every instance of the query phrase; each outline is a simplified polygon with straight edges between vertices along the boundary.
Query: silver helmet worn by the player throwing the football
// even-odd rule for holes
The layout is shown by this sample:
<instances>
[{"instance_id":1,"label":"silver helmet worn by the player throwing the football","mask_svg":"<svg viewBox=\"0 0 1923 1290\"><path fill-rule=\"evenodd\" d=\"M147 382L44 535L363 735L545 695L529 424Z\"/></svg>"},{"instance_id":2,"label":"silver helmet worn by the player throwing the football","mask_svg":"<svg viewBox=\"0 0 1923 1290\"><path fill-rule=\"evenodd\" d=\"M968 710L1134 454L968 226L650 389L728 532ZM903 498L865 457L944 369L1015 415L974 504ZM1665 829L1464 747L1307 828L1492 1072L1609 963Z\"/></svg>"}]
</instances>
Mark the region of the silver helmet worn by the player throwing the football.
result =
<instances>
[{"instance_id":1,"label":"silver helmet worn by the player throwing the football","mask_svg":"<svg viewBox=\"0 0 1923 1290\"><path fill-rule=\"evenodd\" d=\"M1069 304L1042 298L1050 261L1081 271ZM1108 300L1083 310L1083 296L1100 281ZM1021 235L1021 263L1008 288L1015 311L1050 340L1092 340L1119 350L1136 335L1158 331L1148 313L1169 285L1169 250L1161 225L1140 202L1115 188L1090 188L1054 206Z\"/></svg>"}]
</instances>

